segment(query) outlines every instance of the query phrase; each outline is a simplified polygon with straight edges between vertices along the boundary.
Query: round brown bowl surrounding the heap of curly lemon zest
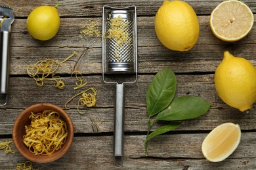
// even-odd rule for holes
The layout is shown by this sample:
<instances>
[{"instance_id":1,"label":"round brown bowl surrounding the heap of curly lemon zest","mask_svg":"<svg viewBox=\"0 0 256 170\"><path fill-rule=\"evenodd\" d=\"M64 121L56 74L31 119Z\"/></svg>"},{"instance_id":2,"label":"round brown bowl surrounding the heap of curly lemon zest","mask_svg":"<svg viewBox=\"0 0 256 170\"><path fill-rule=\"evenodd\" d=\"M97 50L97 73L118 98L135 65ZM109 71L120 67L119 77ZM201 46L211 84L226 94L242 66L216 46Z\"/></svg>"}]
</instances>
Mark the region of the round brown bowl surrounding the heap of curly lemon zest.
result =
<instances>
[{"instance_id":1,"label":"round brown bowl surrounding the heap of curly lemon zest","mask_svg":"<svg viewBox=\"0 0 256 170\"><path fill-rule=\"evenodd\" d=\"M23 135L26 134L25 126L30 125L31 112L39 113L43 112L44 110L53 110L58 112L62 120L66 122L68 128L68 137L66 139L66 142L62 145L62 148L60 148L60 150L53 152L51 156L35 155L32 152L30 152L30 150L28 150L28 147L23 143ZM56 105L52 105L49 103L40 103L37 105L32 105L27 109L23 110L16 119L12 129L12 140L18 152L20 152L20 154L24 156L24 158L26 158L27 160L37 163L47 163L58 160L58 158L62 157L68 151L68 148L70 148L70 145L72 144L73 138L74 126L72 120L70 119L70 116L68 116L68 114L60 107L57 107Z\"/></svg>"}]
</instances>

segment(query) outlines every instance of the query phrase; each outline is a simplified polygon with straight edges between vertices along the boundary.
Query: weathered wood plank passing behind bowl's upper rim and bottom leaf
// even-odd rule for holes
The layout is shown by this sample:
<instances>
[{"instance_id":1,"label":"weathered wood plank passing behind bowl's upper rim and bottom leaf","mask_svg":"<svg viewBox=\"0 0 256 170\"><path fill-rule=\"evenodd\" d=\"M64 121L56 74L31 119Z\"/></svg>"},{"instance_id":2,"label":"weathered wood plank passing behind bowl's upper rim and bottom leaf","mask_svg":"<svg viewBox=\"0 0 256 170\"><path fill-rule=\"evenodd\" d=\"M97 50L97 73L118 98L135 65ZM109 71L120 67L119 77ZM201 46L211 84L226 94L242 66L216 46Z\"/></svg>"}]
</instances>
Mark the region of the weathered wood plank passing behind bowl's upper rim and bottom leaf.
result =
<instances>
[{"instance_id":1,"label":"weathered wood plank passing behind bowl's upper rim and bottom leaf","mask_svg":"<svg viewBox=\"0 0 256 170\"><path fill-rule=\"evenodd\" d=\"M199 118L186 120L175 131L204 131L211 130L219 124L233 122L239 124L243 130L255 130L255 108L249 114L230 109L226 105L213 107L209 112ZM254 106L255 107L255 106ZM18 114L23 109L2 109L0 115L1 135L12 133L12 126ZM80 115L77 110L67 110L74 123L75 133L105 133L114 130L114 109L89 109ZM158 122L152 130L160 127L163 122ZM148 122L146 109L125 109L125 131L146 133Z\"/></svg>"}]
</instances>

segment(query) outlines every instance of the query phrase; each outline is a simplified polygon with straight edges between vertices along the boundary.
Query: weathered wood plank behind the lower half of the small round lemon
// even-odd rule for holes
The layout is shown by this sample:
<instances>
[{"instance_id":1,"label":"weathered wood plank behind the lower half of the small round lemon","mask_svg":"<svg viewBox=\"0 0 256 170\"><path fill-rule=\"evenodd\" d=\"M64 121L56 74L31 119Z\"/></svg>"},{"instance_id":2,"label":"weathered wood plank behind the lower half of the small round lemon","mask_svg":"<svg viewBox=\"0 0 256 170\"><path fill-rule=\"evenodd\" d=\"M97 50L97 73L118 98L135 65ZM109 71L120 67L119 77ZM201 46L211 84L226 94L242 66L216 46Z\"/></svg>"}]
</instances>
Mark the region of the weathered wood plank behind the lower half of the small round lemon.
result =
<instances>
[{"instance_id":1,"label":"weathered wood plank behind the lower half of the small round lemon","mask_svg":"<svg viewBox=\"0 0 256 170\"><path fill-rule=\"evenodd\" d=\"M196 44L208 45L228 45L236 46L242 44L255 43L256 25L253 26L251 32L241 41L224 42L217 39L211 32L209 25L209 16L198 16L200 22L200 37ZM53 39L50 41L37 41L33 39L26 29L26 19L16 19L12 25L12 46L70 46L70 47L100 47L100 37L83 37L81 36L81 28L89 25L90 21L96 21L101 31L102 18L62 18L60 29ZM154 30L154 17L139 17L137 20L138 29L138 45L139 46L162 46ZM189 52L194 52L194 48ZM186 53L186 52L180 52Z\"/></svg>"}]
</instances>

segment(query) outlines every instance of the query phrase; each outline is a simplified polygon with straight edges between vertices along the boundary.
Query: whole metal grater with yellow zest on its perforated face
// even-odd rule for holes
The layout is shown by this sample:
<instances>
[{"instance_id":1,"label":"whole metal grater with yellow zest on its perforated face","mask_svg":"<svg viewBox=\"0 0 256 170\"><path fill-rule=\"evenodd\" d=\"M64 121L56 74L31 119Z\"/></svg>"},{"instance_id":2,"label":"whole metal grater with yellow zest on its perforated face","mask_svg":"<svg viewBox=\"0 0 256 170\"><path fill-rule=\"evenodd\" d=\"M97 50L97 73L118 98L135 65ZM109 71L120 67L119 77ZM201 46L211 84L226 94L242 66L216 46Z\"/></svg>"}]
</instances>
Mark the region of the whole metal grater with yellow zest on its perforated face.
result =
<instances>
[{"instance_id":1,"label":"whole metal grater with yellow zest on its perforated face","mask_svg":"<svg viewBox=\"0 0 256 170\"><path fill-rule=\"evenodd\" d=\"M114 165L120 167L123 163L123 85L137 81L136 7L114 8L105 5L102 14L102 34L102 78L106 83L116 84ZM107 80L106 77L111 75L114 75L114 79L119 80L121 77L123 80ZM126 78L127 75L132 75L129 80Z\"/></svg>"}]
</instances>

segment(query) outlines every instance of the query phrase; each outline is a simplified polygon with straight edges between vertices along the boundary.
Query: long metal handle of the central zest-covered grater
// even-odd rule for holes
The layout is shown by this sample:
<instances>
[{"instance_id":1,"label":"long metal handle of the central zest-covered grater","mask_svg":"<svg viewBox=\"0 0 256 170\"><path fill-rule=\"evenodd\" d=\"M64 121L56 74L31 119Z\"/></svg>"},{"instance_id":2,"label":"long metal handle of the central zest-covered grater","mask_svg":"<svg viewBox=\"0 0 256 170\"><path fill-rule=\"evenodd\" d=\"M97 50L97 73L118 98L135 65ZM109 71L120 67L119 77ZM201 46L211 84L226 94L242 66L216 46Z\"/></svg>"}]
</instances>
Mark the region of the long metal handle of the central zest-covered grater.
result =
<instances>
[{"instance_id":1,"label":"long metal handle of the central zest-covered grater","mask_svg":"<svg viewBox=\"0 0 256 170\"><path fill-rule=\"evenodd\" d=\"M114 127L114 165L121 167L123 164L123 132L124 132L124 87L116 84L116 108Z\"/></svg>"}]
</instances>

